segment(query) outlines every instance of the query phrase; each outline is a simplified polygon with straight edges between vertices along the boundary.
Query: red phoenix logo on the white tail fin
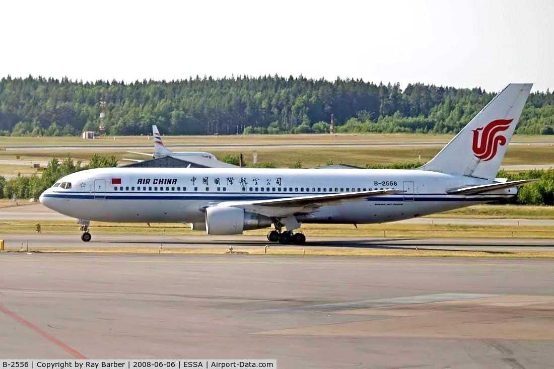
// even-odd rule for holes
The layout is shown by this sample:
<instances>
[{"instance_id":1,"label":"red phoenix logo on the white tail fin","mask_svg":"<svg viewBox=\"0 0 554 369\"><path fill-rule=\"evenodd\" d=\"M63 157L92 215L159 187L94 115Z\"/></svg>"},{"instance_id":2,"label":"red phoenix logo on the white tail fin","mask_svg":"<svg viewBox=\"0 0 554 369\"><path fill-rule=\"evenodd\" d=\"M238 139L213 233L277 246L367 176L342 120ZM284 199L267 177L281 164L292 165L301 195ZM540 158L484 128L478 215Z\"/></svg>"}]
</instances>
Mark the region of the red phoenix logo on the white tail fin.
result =
<instances>
[{"instance_id":1,"label":"red phoenix logo on the white tail fin","mask_svg":"<svg viewBox=\"0 0 554 369\"><path fill-rule=\"evenodd\" d=\"M476 158L489 161L496 156L498 145L506 145L506 137L499 132L509 129L512 120L493 120L488 125L473 130L473 153Z\"/></svg>"}]
</instances>

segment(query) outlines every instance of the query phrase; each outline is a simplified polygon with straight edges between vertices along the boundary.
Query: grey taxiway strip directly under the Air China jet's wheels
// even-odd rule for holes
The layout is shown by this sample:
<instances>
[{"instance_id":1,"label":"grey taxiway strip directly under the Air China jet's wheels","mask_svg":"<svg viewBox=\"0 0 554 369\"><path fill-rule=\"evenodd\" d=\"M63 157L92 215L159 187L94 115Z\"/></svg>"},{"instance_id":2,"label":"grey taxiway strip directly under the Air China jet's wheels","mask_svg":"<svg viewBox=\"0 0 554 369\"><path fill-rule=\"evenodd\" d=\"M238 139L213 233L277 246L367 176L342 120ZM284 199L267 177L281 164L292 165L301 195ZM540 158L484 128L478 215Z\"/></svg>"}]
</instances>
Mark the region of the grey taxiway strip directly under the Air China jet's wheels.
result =
<instances>
[{"instance_id":1,"label":"grey taxiway strip directly under the Air China jet's wheels","mask_svg":"<svg viewBox=\"0 0 554 369\"><path fill-rule=\"evenodd\" d=\"M383 237L313 237L308 235L304 245L280 245L271 243L263 235L135 235L135 234L95 234L93 239L83 242L75 227L74 234L10 234L0 235L6 250L20 251L117 251L136 250L157 252L186 251L196 249L263 251L270 246L269 253L278 250L473 250L484 252L554 252L554 239L551 238L383 238Z\"/></svg>"}]
</instances>

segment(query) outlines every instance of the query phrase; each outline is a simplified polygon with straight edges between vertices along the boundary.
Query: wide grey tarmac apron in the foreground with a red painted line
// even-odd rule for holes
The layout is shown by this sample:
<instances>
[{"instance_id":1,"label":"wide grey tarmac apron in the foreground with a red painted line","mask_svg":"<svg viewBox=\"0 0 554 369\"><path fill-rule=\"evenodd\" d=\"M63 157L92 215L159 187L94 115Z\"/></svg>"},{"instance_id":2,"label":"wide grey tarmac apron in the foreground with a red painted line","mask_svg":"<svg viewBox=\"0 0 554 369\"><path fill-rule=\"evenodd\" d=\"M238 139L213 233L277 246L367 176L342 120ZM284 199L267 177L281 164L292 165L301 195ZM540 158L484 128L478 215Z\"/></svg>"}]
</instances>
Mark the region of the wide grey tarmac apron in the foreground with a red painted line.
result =
<instances>
[{"instance_id":1,"label":"wide grey tarmac apron in the foreground with a red painted line","mask_svg":"<svg viewBox=\"0 0 554 369\"><path fill-rule=\"evenodd\" d=\"M554 362L551 260L4 253L0 268L2 359Z\"/></svg>"}]
</instances>

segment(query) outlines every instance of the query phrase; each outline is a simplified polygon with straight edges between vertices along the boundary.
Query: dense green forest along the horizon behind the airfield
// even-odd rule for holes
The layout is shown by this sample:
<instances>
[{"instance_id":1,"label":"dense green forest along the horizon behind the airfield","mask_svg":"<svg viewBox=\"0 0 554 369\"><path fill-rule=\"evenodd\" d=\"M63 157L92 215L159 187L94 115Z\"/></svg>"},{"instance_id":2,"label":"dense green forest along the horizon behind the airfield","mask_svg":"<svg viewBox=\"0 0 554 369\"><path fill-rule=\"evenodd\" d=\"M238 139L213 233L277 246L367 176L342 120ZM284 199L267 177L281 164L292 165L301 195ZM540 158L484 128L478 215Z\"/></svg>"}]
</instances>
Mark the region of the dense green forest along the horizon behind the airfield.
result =
<instances>
[{"instance_id":1,"label":"dense green forest along the horizon behind the airfield","mask_svg":"<svg viewBox=\"0 0 554 369\"><path fill-rule=\"evenodd\" d=\"M481 88L383 84L361 79L232 76L95 82L0 80L0 135L69 136L98 131L100 100L109 135L458 132L495 95ZM554 134L554 95L532 93L520 134Z\"/></svg>"}]
</instances>

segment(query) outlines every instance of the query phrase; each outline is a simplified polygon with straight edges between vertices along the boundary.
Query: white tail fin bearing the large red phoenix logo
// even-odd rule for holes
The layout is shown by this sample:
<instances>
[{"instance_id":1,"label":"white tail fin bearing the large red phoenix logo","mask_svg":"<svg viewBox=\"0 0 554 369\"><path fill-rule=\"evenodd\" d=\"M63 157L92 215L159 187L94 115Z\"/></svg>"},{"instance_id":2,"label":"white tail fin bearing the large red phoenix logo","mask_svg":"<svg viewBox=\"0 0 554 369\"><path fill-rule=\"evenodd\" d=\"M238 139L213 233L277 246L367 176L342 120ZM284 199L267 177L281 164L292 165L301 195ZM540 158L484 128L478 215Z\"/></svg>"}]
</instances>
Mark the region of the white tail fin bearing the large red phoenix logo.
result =
<instances>
[{"instance_id":1,"label":"white tail fin bearing the large red phoenix logo","mask_svg":"<svg viewBox=\"0 0 554 369\"><path fill-rule=\"evenodd\" d=\"M507 85L437 156L419 169L494 179L532 85Z\"/></svg>"}]
</instances>

